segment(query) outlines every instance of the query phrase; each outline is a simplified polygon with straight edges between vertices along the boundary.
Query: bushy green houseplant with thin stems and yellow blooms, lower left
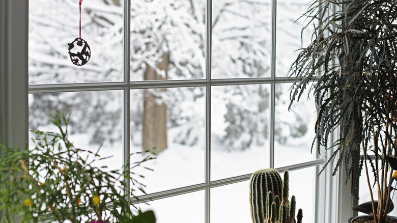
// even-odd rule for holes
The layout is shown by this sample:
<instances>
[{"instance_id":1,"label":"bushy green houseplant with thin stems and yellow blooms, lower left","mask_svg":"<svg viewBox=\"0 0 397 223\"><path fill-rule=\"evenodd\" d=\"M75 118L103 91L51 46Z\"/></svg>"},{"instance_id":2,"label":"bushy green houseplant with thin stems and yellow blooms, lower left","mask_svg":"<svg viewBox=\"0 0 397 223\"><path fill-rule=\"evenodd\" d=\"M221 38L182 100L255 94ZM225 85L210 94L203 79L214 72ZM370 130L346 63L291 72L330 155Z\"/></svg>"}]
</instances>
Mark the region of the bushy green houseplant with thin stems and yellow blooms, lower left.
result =
<instances>
[{"instance_id":1,"label":"bushy green houseplant with thin stems and yellow blooms, lower left","mask_svg":"<svg viewBox=\"0 0 397 223\"><path fill-rule=\"evenodd\" d=\"M132 182L132 197L136 198L134 190L145 192L144 185L135 179L140 176L132 169L153 157L140 158L131 163L131 169L128 165L114 171L97 168L95 162L104 159L99 149L96 153L83 151L68 140L69 117L54 113L49 119L57 132L33 131L33 149L8 148L0 143L4 152L0 157L1 222L14 222L20 216L21 222L154 223L153 212L142 213L131 206L122 192L127 180ZM142 216L151 220L143 221Z\"/></svg>"}]
</instances>

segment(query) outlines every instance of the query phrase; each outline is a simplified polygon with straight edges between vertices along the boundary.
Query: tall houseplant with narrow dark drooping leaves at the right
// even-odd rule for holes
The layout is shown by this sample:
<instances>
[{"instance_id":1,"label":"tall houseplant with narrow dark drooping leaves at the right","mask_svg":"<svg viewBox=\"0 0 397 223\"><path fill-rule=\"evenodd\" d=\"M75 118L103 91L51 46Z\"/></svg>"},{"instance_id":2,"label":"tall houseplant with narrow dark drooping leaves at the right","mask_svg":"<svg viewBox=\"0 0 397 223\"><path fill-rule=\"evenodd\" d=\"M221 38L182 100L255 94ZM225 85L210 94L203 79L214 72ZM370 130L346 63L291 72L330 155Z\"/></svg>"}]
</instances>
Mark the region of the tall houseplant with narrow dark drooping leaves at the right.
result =
<instances>
[{"instance_id":1,"label":"tall houseplant with narrow dark drooping leaves at the right","mask_svg":"<svg viewBox=\"0 0 397 223\"><path fill-rule=\"evenodd\" d=\"M388 160L396 156L394 4L392 0L311 2L302 17L308 19L306 27L314 27L313 41L299 53L289 70L289 76L296 77L290 107L299 101L304 90L314 93L318 119L312 149L316 147L319 153L322 147L333 149L326 162L336 161L333 174L342 165L348 179L364 171L377 223L386 220L392 176ZM330 135L337 128L338 140L331 143ZM370 174L376 179L377 198L371 191Z\"/></svg>"}]
</instances>

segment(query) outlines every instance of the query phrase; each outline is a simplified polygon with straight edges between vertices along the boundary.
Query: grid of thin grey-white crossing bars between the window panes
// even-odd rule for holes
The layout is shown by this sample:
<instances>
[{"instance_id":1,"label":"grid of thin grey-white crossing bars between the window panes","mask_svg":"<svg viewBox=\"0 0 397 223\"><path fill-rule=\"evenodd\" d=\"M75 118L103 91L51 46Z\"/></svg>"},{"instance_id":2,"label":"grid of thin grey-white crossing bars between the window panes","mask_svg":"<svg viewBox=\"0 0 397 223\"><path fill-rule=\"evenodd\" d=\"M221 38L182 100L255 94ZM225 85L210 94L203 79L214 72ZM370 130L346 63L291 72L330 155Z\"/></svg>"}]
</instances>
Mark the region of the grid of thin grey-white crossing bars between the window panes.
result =
<instances>
[{"instance_id":1,"label":"grid of thin grey-white crossing bars between the window panes","mask_svg":"<svg viewBox=\"0 0 397 223\"><path fill-rule=\"evenodd\" d=\"M250 174L235 176L231 178L211 181L211 88L213 86L231 86L231 85L250 85L250 84L270 84L270 149L269 149L269 167L274 168L274 116L275 116L275 85L276 83L293 82L294 79L287 77L276 77L275 64L275 43L276 43L276 5L277 1L272 0L272 22L271 22L271 77L259 78L229 78L229 79L212 79L211 78L211 17L212 17L212 0L206 1L206 77L204 79L193 80L161 80L161 81L130 81L130 23L131 23L131 3L130 0L124 0L123 13L123 77L122 82L100 82L100 83L67 83L67 84L50 84L50 85L30 85L29 93L60 93L60 92L81 92L81 91L100 91L100 90L122 90L123 91L123 161L126 161L130 154L130 91L133 89L148 88L177 88L177 87L205 87L206 88L206 155L205 155L205 183L185 186L155 192L147 196L130 199L132 204L158 200L185 193L205 190L206 192L206 222L210 222L210 200L211 188L247 181ZM284 166L277 168L279 172L288 169L290 171L308 168L310 166L319 166L324 164L324 159ZM317 168L319 169L319 168ZM316 182L316 187L318 182ZM129 196L130 182L127 182L125 188L126 196ZM319 191L319 190L317 190ZM318 192L316 192L317 195ZM317 202L316 202L317 203ZM316 205L317 206L317 205ZM317 214L317 211L316 211ZM317 219L317 217L316 217Z\"/></svg>"}]
</instances>

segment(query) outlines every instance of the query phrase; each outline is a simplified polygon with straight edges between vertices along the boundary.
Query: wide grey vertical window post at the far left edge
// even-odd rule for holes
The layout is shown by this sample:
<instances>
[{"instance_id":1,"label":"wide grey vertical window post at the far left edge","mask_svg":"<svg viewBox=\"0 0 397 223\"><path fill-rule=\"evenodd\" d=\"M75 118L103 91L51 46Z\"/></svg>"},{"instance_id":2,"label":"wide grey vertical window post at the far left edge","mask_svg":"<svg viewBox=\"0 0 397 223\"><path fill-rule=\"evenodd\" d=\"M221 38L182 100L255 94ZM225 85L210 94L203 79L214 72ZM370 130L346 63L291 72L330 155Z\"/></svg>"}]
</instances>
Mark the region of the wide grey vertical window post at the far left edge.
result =
<instances>
[{"instance_id":1,"label":"wide grey vertical window post at the far left edge","mask_svg":"<svg viewBox=\"0 0 397 223\"><path fill-rule=\"evenodd\" d=\"M28 141L28 2L1 0L0 140L24 148Z\"/></svg>"}]
</instances>

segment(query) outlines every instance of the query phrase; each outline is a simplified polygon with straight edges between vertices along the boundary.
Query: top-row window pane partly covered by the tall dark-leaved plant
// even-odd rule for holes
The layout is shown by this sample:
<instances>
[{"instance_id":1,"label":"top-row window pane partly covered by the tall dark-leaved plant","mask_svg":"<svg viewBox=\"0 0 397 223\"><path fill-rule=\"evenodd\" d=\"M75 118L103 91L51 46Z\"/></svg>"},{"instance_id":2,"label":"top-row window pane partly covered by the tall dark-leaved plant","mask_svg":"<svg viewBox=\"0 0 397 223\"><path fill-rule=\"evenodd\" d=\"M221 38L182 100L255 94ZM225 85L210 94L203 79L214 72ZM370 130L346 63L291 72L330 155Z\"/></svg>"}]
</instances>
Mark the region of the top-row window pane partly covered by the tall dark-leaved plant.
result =
<instances>
[{"instance_id":1,"label":"top-row window pane partly covered by the tall dark-leaved plant","mask_svg":"<svg viewBox=\"0 0 397 223\"><path fill-rule=\"evenodd\" d=\"M276 76L285 77L302 48L301 31L306 24L302 17L308 6L307 0L277 0L276 28ZM306 21L307 22L307 21ZM303 47L311 40L311 27L303 31Z\"/></svg>"}]
</instances>

